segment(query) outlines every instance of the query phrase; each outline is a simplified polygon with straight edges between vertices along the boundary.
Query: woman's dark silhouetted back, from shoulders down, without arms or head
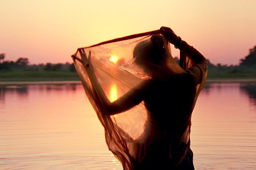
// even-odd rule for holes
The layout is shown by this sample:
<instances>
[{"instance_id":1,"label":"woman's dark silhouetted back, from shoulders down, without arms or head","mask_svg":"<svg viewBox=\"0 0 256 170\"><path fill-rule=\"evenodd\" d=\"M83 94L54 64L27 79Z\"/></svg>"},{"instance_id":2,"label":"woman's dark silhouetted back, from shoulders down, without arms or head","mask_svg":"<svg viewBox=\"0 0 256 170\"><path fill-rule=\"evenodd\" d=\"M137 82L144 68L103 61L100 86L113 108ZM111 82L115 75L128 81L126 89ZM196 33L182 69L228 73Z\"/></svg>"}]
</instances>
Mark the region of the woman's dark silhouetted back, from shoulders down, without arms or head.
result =
<instances>
[{"instance_id":1,"label":"woman's dark silhouetted back, from shoulders down, without arms or head","mask_svg":"<svg viewBox=\"0 0 256 170\"><path fill-rule=\"evenodd\" d=\"M196 84L188 73L165 74L146 80L143 84L148 121L143 137L138 140L140 153L136 166L138 169L170 168L174 166L170 149L179 147L178 135L190 127L188 117L194 106ZM186 148L184 143L180 146L183 147L181 149ZM172 156L177 156L177 153Z\"/></svg>"}]
</instances>

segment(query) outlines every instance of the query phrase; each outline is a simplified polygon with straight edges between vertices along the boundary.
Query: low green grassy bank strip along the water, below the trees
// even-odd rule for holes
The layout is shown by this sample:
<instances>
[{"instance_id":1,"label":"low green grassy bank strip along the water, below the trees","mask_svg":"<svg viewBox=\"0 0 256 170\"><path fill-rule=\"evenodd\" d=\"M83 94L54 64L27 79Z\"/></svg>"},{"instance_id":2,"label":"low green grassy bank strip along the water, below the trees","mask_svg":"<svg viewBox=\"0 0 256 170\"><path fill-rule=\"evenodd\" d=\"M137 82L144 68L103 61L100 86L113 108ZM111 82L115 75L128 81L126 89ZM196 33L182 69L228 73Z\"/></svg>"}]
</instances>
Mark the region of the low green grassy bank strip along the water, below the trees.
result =
<instances>
[{"instance_id":1,"label":"low green grassy bank strip along the water, below the trees","mask_svg":"<svg viewBox=\"0 0 256 170\"><path fill-rule=\"evenodd\" d=\"M230 73L208 71L206 83L256 82L256 71ZM6 84L81 84L76 72L46 70L0 71L0 85Z\"/></svg>"}]
</instances>

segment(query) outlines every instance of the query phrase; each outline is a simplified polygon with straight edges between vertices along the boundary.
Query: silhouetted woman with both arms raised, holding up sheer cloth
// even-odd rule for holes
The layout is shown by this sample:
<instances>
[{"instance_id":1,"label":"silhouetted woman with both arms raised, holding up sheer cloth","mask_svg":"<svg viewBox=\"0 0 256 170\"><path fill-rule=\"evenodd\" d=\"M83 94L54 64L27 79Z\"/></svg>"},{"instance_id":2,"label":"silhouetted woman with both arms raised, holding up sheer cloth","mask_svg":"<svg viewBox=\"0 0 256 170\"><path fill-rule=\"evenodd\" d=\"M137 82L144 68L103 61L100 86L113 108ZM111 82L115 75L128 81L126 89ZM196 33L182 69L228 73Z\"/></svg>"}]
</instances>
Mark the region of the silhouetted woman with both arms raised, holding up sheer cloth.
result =
<instances>
[{"instance_id":1,"label":"silhouetted woman with both arms raised, holding up sheer cloth","mask_svg":"<svg viewBox=\"0 0 256 170\"><path fill-rule=\"evenodd\" d=\"M191 114L205 82L208 62L172 29L161 27L160 30L164 37L153 35L136 45L133 52L134 62L151 78L114 102L108 100L98 83L90 62L91 53L87 58L84 50L79 49L81 62L109 115L144 102L149 123L128 153L132 157L131 169L194 169L190 149ZM168 64L173 58L166 39L188 57L192 67L177 72Z\"/></svg>"}]
</instances>

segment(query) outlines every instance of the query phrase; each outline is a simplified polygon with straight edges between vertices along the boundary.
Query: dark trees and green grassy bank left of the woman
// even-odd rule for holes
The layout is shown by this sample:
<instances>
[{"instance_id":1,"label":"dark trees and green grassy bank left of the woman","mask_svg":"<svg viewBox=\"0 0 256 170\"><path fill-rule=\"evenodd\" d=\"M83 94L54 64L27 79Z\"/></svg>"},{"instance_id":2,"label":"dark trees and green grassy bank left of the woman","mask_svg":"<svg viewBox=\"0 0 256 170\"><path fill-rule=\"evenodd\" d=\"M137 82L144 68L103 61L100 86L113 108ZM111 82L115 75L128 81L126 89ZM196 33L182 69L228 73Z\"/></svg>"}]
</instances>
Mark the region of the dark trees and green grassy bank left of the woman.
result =
<instances>
[{"instance_id":1,"label":"dark trees and green grassy bank left of the woman","mask_svg":"<svg viewBox=\"0 0 256 170\"><path fill-rule=\"evenodd\" d=\"M28 58L20 57L15 62L4 59L5 55L0 54L0 81L79 80L73 63L29 64Z\"/></svg>"}]
</instances>

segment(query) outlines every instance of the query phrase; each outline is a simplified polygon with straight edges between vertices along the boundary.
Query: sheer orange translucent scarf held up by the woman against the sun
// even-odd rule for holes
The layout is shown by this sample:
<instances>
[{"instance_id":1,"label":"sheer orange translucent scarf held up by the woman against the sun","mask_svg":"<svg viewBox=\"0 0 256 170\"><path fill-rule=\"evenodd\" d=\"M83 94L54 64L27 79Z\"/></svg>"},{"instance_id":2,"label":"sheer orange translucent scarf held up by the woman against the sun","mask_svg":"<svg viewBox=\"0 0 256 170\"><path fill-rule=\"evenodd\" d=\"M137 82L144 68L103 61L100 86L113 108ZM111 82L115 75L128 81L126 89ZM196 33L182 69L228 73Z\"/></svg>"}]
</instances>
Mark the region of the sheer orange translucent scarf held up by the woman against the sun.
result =
<instances>
[{"instance_id":1,"label":"sheer orange translucent scarf held up by the woman against the sun","mask_svg":"<svg viewBox=\"0 0 256 170\"><path fill-rule=\"evenodd\" d=\"M134 63L133 51L138 43L147 41L152 35L160 33L160 30L150 31L82 48L87 56L91 51L91 62L96 77L110 102L117 100L143 80L150 79L150 76ZM186 68L194 65L194 62L182 52L180 53L180 65L178 65L171 55L170 44L168 44L168 51L168 66L174 74L184 73ZM122 163L124 169L134 169L134 162L140 163L140 160L147 154L146 148L149 147L147 141L149 139L146 137L149 134L146 134L146 127L150 126L148 124L150 122L144 102L123 113L109 115L98 95L97 88L91 83L86 66L78 60L81 59L80 53L76 51L72 58L88 99L104 126L109 150ZM202 83L197 85L191 113L204 86L205 78L206 75L203 75ZM191 113L185 118L184 126L178 129L176 133L178 135L173 137L174 139L178 138L180 143L184 142L188 147L190 145ZM186 152L184 153L186 154ZM184 153L177 158L177 163L181 162Z\"/></svg>"}]
</instances>

